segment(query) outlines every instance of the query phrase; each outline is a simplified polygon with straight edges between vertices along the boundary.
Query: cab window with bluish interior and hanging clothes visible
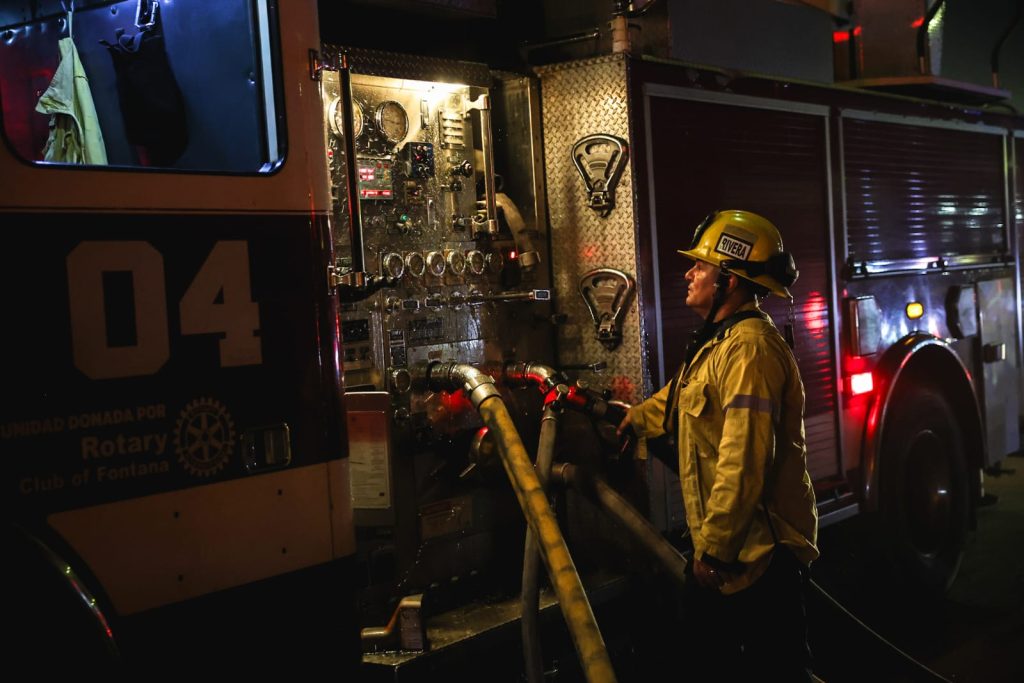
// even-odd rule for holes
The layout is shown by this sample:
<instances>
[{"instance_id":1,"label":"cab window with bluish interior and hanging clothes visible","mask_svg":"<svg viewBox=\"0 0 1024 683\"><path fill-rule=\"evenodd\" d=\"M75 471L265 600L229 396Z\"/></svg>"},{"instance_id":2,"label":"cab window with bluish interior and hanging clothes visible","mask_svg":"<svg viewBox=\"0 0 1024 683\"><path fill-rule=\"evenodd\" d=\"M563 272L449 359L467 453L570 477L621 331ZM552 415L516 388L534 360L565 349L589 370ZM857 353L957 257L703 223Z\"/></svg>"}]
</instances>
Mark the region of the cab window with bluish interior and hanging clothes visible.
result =
<instances>
[{"instance_id":1,"label":"cab window with bluish interior and hanging clothes visible","mask_svg":"<svg viewBox=\"0 0 1024 683\"><path fill-rule=\"evenodd\" d=\"M232 174L284 158L273 0L0 0L0 120L34 164Z\"/></svg>"}]
</instances>

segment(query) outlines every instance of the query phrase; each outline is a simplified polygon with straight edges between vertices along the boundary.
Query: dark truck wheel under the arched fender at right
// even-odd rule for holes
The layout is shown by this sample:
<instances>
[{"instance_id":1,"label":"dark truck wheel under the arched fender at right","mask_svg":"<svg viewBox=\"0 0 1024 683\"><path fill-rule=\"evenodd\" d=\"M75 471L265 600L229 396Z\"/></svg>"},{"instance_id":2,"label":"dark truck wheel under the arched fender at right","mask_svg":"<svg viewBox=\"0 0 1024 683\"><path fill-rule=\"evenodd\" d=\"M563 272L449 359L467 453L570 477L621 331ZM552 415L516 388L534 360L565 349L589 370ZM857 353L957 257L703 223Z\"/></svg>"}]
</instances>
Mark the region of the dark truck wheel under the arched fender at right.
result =
<instances>
[{"instance_id":1,"label":"dark truck wheel under the arched fender at right","mask_svg":"<svg viewBox=\"0 0 1024 683\"><path fill-rule=\"evenodd\" d=\"M892 405L882 444L882 530L900 579L941 594L956 578L969 523L964 435L934 389L897 389Z\"/></svg>"}]
</instances>

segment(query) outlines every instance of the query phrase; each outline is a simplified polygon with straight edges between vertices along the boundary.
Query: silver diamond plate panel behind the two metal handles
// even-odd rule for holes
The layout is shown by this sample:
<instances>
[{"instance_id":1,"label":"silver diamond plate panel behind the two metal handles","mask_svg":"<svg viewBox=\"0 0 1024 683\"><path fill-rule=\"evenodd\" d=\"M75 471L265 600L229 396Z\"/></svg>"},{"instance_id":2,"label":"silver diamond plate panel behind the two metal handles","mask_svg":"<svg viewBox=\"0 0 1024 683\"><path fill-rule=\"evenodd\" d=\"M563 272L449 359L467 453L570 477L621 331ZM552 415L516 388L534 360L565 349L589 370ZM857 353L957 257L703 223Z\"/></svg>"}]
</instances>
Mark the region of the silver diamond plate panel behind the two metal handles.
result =
<instances>
[{"instance_id":1,"label":"silver diamond plate panel behind the two metal handles","mask_svg":"<svg viewBox=\"0 0 1024 683\"><path fill-rule=\"evenodd\" d=\"M568 321L558 330L559 366L603 361L601 373L581 373L597 386L610 387L628 402L643 398L647 364L637 299L623 321L623 343L605 349L580 296L589 270L610 267L638 278L633 160L615 189L615 208L605 218L587 206L584 180L572 164L573 143L591 133L629 140L630 102L626 60L600 57L538 69L544 102L544 152L551 222L553 289L559 312ZM632 146L632 142L631 142Z\"/></svg>"}]
</instances>

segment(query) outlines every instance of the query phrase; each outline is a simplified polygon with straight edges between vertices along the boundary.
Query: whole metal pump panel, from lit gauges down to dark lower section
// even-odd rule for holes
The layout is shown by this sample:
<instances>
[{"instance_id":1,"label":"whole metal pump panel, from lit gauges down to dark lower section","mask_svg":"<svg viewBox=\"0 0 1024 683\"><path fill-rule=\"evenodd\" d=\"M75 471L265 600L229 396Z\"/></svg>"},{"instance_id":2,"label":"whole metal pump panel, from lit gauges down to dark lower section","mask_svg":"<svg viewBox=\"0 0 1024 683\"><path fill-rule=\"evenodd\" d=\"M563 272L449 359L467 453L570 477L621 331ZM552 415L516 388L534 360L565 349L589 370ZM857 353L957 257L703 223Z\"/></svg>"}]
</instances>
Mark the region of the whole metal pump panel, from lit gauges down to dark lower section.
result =
<instances>
[{"instance_id":1,"label":"whole metal pump panel, from lit gauges down to dark lower section","mask_svg":"<svg viewBox=\"0 0 1024 683\"><path fill-rule=\"evenodd\" d=\"M416 380L435 361L487 370L530 348L550 352L550 295L540 268L520 267L515 226L495 208L489 72L344 48L327 60L340 63L342 53L350 72L322 80L337 270L361 264L368 278L394 283L344 304L341 323L353 513L368 577L362 623L383 625L388 602L369 597L381 591L433 586L431 600L443 602L437 596L453 582L459 593L493 594L518 580L510 572L521 546L510 539L521 538L522 516L497 457L482 462L473 447L476 411L463 392ZM350 131L338 116L346 80ZM353 180L354 212L344 200ZM521 208L527 222L536 220L530 208ZM520 431L531 447L538 421L516 417L526 418Z\"/></svg>"}]
</instances>

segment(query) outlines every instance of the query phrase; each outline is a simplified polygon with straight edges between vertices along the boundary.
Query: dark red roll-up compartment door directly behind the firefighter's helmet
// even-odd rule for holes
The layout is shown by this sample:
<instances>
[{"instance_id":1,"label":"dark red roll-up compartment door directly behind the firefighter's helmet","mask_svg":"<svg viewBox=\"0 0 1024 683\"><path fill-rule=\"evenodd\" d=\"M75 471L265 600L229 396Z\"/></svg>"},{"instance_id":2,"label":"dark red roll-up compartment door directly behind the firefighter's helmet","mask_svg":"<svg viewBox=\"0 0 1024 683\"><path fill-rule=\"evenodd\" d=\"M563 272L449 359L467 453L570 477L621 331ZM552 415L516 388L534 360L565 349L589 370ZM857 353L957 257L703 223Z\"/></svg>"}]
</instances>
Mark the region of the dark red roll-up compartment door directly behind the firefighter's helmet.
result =
<instances>
[{"instance_id":1,"label":"dark red roll-up compartment door directly behind the firefighter's helmet","mask_svg":"<svg viewBox=\"0 0 1024 683\"><path fill-rule=\"evenodd\" d=\"M685 305L683 274L694 227L716 209L744 209L770 219L793 252L800 279L790 305L764 308L781 330L796 324L796 355L807 392L808 469L814 479L840 474L833 322L829 319L828 172L823 114L755 109L684 96L651 96L647 152L653 182L659 350L671 377L700 319ZM648 300L653 300L649 297Z\"/></svg>"}]
</instances>

